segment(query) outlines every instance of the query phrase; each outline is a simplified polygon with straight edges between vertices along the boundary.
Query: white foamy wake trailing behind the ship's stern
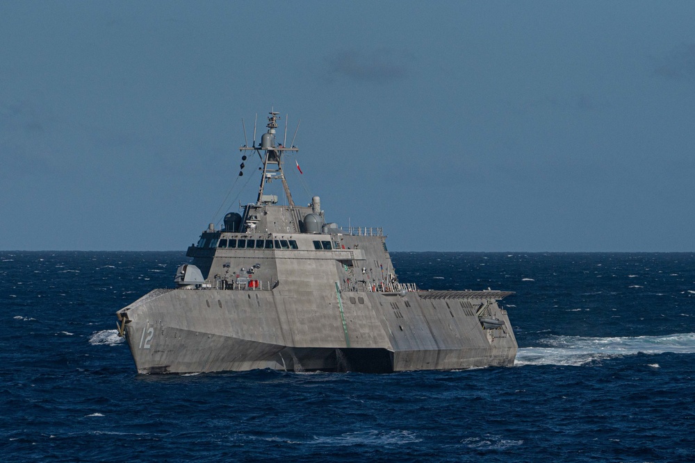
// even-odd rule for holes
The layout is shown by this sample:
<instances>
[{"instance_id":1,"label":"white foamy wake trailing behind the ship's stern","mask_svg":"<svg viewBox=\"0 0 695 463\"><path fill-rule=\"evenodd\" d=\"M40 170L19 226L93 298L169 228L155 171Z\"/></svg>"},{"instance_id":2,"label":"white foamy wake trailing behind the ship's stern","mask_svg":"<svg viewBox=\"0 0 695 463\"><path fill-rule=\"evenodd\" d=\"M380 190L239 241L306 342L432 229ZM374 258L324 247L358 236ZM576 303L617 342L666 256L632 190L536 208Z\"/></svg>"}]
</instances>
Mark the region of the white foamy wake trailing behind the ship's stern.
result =
<instances>
[{"instance_id":1,"label":"white foamy wake trailing behind the ship's stern","mask_svg":"<svg viewBox=\"0 0 695 463\"><path fill-rule=\"evenodd\" d=\"M552 336L541 341L546 346L519 348L514 366L583 365L637 353L695 353L695 333L666 336L583 337Z\"/></svg>"}]
</instances>

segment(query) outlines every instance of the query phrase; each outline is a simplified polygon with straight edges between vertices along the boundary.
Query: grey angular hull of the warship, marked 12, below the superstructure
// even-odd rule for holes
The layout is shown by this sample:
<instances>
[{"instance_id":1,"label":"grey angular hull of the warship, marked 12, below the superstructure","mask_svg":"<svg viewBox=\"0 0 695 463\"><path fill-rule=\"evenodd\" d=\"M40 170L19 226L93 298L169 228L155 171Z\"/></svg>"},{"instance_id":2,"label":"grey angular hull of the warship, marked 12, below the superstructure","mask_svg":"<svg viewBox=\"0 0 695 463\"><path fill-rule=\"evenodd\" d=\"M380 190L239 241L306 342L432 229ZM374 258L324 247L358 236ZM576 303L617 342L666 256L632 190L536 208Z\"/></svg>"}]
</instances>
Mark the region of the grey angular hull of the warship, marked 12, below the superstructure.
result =
<instances>
[{"instance_id":1,"label":"grey angular hull of the warship, marked 12, below the superstructure","mask_svg":"<svg viewBox=\"0 0 695 463\"><path fill-rule=\"evenodd\" d=\"M483 306L504 325L484 328ZM139 373L468 369L517 350L485 292L156 289L118 316Z\"/></svg>"}]
</instances>

